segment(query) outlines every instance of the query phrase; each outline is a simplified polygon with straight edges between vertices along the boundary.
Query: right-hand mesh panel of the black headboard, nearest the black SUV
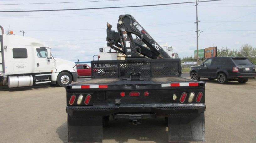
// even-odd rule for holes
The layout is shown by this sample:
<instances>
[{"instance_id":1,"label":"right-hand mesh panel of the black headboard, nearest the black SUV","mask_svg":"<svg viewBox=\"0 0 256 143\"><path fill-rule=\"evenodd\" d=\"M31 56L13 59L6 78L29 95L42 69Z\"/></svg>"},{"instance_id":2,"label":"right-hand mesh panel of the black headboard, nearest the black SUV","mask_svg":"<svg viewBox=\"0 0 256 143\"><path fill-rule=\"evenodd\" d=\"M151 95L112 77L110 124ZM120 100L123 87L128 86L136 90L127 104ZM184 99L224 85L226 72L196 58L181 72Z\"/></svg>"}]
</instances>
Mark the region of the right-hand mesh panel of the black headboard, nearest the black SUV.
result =
<instances>
[{"instance_id":1,"label":"right-hand mesh panel of the black headboard, nearest the black SUV","mask_svg":"<svg viewBox=\"0 0 256 143\"><path fill-rule=\"evenodd\" d=\"M179 62L153 62L153 77L179 75Z\"/></svg>"}]
</instances>

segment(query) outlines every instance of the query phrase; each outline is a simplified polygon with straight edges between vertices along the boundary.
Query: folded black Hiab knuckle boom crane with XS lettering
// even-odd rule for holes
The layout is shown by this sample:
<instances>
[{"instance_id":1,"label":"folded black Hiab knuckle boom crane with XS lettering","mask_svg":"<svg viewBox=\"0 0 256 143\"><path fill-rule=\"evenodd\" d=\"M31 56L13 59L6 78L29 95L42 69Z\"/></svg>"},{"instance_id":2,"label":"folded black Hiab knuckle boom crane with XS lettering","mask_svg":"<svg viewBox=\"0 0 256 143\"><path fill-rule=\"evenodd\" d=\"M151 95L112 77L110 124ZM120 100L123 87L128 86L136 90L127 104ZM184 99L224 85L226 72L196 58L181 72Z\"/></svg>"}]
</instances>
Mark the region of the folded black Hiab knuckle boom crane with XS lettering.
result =
<instances>
[{"instance_id":1,"label":"folded black Hiab knuckle boom crane with XS lettering","mask_svg":"<svg viewBox=\"0 0 256 143\"><path fill-rule=\"evenodd\" d=\"M111 28L112 25L107 23L107 45L127 57L137 57L142 54L151 59L171 58L131 15L119 16L118 32L111 30ZM147 47L134 41L132 34L139 37L140 39L137 39L144 42Z\"/></svg>"}]
</instances>

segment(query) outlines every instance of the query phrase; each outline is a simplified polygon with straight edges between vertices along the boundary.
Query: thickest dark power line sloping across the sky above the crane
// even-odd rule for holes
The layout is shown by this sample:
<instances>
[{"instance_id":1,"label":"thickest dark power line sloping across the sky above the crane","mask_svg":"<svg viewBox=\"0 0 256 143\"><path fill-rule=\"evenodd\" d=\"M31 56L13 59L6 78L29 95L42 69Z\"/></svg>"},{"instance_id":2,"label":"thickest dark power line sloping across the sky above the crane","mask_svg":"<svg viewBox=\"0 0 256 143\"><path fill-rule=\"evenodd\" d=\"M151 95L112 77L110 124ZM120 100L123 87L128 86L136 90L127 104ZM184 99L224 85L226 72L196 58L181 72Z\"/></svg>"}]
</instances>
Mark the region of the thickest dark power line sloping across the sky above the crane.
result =
<instances>
[{"instance_id":1,"label":"thickest dark power line sloping across the sky above the crane","mask_svg":"<svg viewBox=\"0 0 256 143\"><path fill-rule=\"evenodd\" d=\"M212 1L222 1L222 0L208 0L208 1L200 1L200 2L212 2ZM0 12L45 12L45 11L90 10L90 9L110 9L110 8L128 8L128 7L149 7L149 6L186 4L186 3L195 3L195 2L180 2L180 3L152 4L152 5L125 6L125 7L97 7L97 8L78 8L78 9L51 9L51 10L20 10L20 11L0 11Z\"/></svg>"}]
</instances>

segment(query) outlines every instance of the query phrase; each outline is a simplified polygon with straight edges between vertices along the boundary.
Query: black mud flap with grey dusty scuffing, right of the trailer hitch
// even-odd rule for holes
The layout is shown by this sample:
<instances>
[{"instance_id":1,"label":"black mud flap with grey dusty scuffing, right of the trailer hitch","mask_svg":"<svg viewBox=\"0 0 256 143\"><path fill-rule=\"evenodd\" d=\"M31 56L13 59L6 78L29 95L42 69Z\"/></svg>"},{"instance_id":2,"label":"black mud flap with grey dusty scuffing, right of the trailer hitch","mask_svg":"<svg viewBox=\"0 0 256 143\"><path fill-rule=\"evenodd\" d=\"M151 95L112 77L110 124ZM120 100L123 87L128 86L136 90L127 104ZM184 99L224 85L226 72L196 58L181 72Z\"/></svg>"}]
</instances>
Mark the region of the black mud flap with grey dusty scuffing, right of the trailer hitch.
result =
<instances>
[{"instance_id":1,"label":"black mud flap with grey dusty scuffing, right of the trailer hitch","mask_svg":"<svg viewBox=\"0 0 256 143\"><path fill-rule=\"evenodd\" d=\"M170 114L169 142L205 142L205 114Z\"/></svg>"}]
</instances>

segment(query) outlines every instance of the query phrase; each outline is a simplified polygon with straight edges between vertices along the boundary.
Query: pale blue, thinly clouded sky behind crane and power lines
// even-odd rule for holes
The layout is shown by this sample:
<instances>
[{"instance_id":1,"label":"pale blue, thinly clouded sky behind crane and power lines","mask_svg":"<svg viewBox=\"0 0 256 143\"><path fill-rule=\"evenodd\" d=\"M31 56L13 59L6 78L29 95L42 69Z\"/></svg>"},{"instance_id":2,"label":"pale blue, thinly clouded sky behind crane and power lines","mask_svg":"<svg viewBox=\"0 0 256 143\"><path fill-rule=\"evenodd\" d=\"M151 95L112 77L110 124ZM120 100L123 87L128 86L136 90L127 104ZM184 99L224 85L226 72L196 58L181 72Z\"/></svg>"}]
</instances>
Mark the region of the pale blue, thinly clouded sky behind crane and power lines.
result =
<instances>
[{"instance_id":1,"label":"pale blue, thinly clouded sky behind crane and power lines","mask_svg":"<svg viewBox=\"0 0 256 143\"><path fill-rule=\"evenodd\" d=\"M88 2L94 1L94 2ZM152 5L195 0L0 0L1 11L75 9ZM202 1L202 0L199 0ZM56 2L56 4L53 4ZM58 3L74 2L74 3ZM76 2L76 3L75 3ZM32 4L51 3L51 4ZM19 5L15 5L19 4ZM118 16L132 15L160 45L173 47L179 57L194 56L196 50L195 3L152 7L52 12L0 12L0 25L15 35L33 37L52 47L54 57L90 61L106 44L106 23L117 31ZM199 49L217 46L239 50L256 47L256 1L223 0L198 4ZM163 47L164 49L166 47ZM109 48L106 48L106 52ZM113 50L112 50L113 51Z\"/></svg>"}]
</instances>

